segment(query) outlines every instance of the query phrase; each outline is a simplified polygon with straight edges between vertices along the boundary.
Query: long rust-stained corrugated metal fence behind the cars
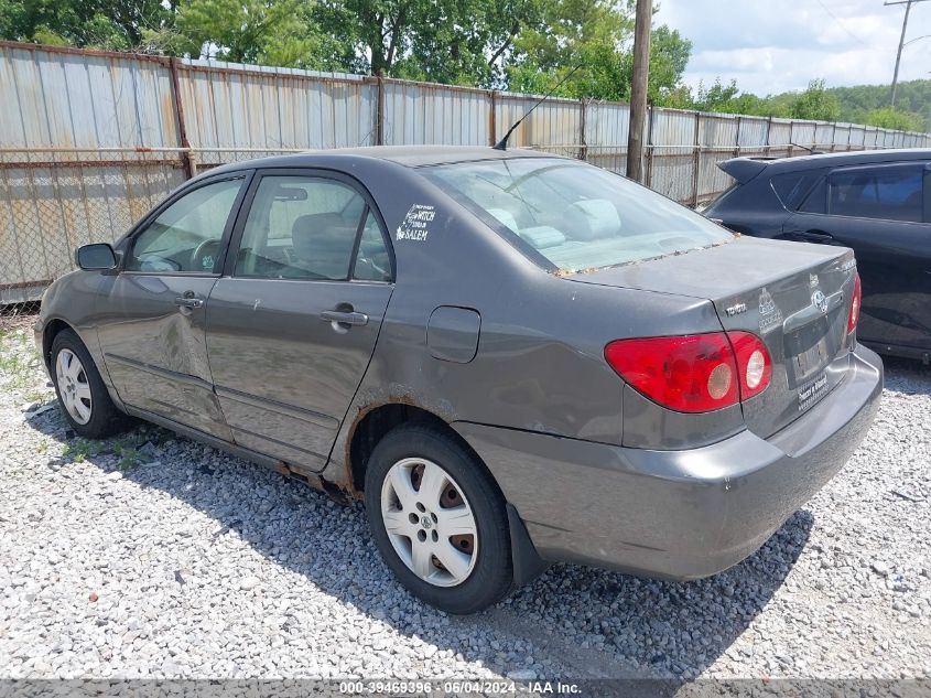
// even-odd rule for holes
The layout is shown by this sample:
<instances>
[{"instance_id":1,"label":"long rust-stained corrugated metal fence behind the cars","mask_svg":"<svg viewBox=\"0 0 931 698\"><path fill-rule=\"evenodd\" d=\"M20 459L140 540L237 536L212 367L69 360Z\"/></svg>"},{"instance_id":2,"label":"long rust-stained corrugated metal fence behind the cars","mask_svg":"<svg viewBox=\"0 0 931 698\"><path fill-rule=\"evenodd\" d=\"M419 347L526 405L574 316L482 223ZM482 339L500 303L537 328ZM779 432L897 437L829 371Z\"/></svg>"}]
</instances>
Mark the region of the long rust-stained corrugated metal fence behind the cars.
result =
<instances>
[{"instance_id":1,"label":"long rust-stained corrugated metal fence behind the cars","mask_svg":"<svg viewBox=\"0 0 931 698\"><path fill-rule=\"evenodd\" d=\"M346 146L488 146L537 98L378 77L0 42L0 303L37 298L72 253L112 240L220 163ZM625 171L628 105L546 99L512 147ZM715 163L805 148L931 147L849 124L654 108L645 172L686 204L727 185Z\"/></svg>"}]
</instances>

